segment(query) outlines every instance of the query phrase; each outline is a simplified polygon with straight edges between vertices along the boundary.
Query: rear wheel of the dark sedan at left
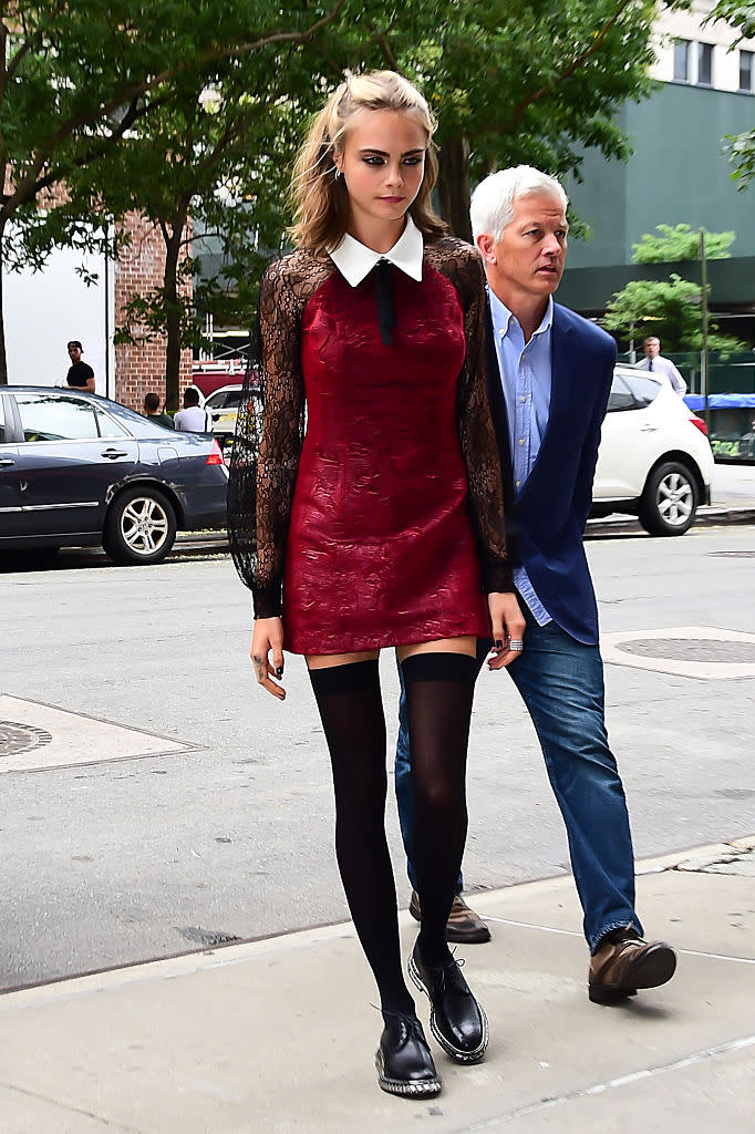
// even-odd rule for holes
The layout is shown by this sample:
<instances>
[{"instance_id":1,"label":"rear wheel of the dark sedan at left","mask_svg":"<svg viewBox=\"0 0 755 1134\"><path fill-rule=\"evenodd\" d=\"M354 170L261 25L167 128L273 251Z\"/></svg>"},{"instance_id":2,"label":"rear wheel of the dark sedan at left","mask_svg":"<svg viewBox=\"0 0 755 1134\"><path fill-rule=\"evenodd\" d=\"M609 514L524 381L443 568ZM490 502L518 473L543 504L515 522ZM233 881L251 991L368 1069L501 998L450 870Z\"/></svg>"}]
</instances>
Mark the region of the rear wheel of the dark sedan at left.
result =
<instances>
[{"instance_id":1,"label":"rear wheel of the dark sedan at left","mask_svg":"<svg viewBox=\"0 0 755 1134\"><path fill-rule=\"evenodd\" d=\"M116 497L105 518L102 547L118 564L159 564L176 539L176 511L162 492L133 488Z\"/></svg>"}]
</instances>

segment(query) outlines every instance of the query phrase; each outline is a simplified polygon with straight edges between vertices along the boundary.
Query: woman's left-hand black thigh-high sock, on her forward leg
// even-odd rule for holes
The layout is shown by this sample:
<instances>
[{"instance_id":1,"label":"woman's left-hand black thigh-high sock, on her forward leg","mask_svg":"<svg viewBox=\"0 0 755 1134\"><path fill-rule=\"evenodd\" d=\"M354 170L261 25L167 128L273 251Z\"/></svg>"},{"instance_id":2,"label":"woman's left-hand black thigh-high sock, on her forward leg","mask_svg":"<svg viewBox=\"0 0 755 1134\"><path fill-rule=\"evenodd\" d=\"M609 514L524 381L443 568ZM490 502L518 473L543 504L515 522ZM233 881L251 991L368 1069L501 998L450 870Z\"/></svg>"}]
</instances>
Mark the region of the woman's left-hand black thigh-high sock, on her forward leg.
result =
<instances>
[{"instance_id":1,"label":"woman's left-hand black thigh-high sock, on her forward leg","mask_svg":"<svg viewBox=\"0 0 755 1134\"><path fill-rule=\"evenodd\" d=\"M311 669L336 790L336 856L382 1009L414 1015L385 839L385 718L378 661Z\"/></svg>"}]
</instances>

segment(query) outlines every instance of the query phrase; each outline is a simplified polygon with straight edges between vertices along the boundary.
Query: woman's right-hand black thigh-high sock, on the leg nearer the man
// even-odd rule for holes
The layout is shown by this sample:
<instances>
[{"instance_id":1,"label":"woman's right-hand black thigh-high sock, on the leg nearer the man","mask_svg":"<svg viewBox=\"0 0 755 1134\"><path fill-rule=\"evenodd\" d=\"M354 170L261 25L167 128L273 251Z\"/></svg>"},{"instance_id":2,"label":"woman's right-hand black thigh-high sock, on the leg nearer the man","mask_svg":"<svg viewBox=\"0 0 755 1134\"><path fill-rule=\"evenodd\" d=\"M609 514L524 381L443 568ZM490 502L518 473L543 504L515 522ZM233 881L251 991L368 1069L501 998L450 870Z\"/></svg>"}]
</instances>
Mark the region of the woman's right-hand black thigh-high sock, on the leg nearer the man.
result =
<instances>
[{"instance_id":1,"label":"woman's right-hand black thigh-high sock, on the leg nearer the man","mask_svg":"<svg viewBox=\"0 0 755 1134\"><path fill-rule=\"evenodd\" d=\"M415 799L412 857L427 965L449 957L446 923L467 837L465 776L477 663L463 653L416 653L402 662Z\"/></svg>"}]
</instances>

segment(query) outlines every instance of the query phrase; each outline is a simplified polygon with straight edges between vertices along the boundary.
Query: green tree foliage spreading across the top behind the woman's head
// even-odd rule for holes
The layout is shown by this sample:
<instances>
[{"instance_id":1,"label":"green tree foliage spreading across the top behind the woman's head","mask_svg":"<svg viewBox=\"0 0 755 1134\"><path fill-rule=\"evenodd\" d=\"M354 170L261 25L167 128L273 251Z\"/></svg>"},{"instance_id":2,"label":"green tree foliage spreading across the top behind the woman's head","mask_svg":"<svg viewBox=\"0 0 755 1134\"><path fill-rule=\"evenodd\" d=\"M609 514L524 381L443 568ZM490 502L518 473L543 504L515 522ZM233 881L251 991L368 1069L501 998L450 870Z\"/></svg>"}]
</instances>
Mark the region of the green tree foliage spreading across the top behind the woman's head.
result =
<instances>
[{"instance_id":1,"label":"green tree foliage spreading across the top behind the woman's head","mask_svg":"<svg viewBox=\"0 0 755 1134\"><path fill-rule=\"evenodd\" d=\"M235 304L236 318L252 310L260 261L288 220L297 139L347 68L391 67L422 86L440 121L441 211L468 238L469 187L487 172L526 162L578 177L587 147L629 155L614 113L652 88L656 10L654 0L5 3L6 264L102 243L113 217L138 209L163 232L167 273L134 297L122 333L168 332L175 355L197 333L179 287L180 264L190 266L181 220L190 212L219 238L220 270L197 298L218 312ZM214 115L201 102L207 87L221 96ZM40 212L50 189L58 206ZM3 370L5 353L0 381Z\"/></svg>"}]
</instances>

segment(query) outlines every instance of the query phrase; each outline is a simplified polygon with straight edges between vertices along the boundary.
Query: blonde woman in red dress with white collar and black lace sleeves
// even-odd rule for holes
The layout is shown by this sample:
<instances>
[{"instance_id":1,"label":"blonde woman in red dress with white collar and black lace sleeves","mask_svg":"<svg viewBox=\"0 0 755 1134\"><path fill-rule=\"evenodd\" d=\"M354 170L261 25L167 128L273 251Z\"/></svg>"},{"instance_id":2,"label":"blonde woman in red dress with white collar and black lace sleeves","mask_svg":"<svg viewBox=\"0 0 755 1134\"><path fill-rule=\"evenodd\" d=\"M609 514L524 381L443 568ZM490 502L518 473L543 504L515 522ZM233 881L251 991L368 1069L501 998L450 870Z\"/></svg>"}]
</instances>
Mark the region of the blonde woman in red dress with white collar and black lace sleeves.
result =
<instances>
[{"instance_id":1,"label":"blonde woman in red dress with white collar and black lace sleeves","mask_svg":"<svg viewBox=\"0 0 755 1134\"><path fill-rule=\"evenodd\" d=\"M398 649L412 738L422 924L409 973L441 1047L476 1063L487 1022L446 942L475 649L492 634L499 669L524 629L485 396L482 263L433 212L433 128L392 71L349 77L314 122L294 177L297 251L262 280L264 412L244 399L229 496L256 679L282 700L283 650L304 654L322 719L338 864L383 1014L379 1083L415 1098L441 1080L402 975L379 653Z\"/></svg>"}]
</instances>

